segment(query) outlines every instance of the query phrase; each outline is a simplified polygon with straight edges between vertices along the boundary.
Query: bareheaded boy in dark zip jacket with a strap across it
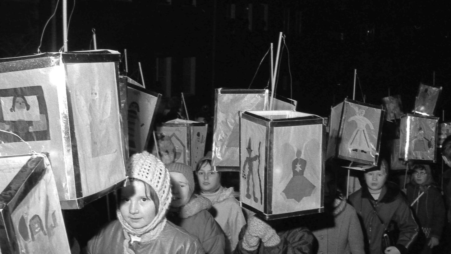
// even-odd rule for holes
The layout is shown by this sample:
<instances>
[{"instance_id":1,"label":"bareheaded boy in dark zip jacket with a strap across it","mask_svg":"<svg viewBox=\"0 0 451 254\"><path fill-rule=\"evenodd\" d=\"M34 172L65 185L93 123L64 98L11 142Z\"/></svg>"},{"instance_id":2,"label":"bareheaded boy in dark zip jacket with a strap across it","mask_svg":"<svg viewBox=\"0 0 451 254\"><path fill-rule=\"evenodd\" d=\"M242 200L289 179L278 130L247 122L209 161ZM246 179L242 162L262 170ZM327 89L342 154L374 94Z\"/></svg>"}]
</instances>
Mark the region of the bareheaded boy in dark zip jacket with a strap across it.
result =
<instances>
[{"instance_id":1,"label":"bareheaded boy in dark zip jacket with a strap across it","mask_svg":"<svg viewBox=\"0 0 451 254\"><path fill-rule=\"evenodd\" d=\"M369 254L405 254L418 236L418 225L409 204L395 183L387 182L387 160L380 158L377 167L365 171L365 183L349 196L349 202L360 216ZM382 249L382 234L394 221L399 229L393 246Z\"/></svg>"}]
</instances>

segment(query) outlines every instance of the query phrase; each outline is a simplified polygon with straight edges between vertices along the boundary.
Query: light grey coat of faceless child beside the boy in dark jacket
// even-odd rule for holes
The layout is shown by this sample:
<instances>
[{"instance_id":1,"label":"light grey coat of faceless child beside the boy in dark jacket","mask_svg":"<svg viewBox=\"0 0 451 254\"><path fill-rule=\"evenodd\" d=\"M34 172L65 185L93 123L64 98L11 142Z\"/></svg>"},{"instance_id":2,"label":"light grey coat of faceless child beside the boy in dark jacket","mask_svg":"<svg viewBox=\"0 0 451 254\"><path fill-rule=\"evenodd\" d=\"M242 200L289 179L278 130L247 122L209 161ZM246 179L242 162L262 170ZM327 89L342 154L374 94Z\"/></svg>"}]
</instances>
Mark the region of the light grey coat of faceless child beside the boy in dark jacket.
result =
<instances>
[{"instance_id":1,"label":"light grey coat of faceless child beside the boy in dark jacket","mask_svg":"<svg viewBox=\"0 0 451 254\"><path fill-rule=\"evenodd\" d=\"M328 223L325 216L333 216ZM364 254L364 236L354 207L336 198L333 212L312 216L306 226L318 241L318 254Z\"/></svg>"}]
</instances>

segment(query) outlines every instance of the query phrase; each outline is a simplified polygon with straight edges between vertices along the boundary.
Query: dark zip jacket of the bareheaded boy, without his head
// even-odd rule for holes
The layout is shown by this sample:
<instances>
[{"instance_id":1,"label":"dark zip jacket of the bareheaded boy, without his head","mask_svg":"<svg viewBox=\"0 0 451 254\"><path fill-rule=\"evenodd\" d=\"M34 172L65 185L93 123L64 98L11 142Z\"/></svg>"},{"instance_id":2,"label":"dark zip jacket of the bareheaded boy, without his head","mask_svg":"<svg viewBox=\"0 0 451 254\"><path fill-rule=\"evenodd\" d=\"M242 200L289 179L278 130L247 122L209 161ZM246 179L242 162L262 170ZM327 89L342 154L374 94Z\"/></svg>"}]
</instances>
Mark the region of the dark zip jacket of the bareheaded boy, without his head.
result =
<instances>
[{"instance_id":1,"label":"dark zip jacket of the bareheaded boy, without his head","mask_svg":"<svg viewBox=\"0 0 451 254\"><path fill-rule=\"evenodd\" d=\"M395 247L401 254L407 253L407 250L418 236L419 228L410 211L409 204L395 183L385 183L377 201L369 193L368 187L364 186L350 195L349 202L359 215L364 234L366 234L365 240L369 245L370 254L383 253L382 233L390 221L396 222L400 231ZM377 213L384 222L383 224L377 217L370 202L373 203Z\"/></svg>"}]
</instances>

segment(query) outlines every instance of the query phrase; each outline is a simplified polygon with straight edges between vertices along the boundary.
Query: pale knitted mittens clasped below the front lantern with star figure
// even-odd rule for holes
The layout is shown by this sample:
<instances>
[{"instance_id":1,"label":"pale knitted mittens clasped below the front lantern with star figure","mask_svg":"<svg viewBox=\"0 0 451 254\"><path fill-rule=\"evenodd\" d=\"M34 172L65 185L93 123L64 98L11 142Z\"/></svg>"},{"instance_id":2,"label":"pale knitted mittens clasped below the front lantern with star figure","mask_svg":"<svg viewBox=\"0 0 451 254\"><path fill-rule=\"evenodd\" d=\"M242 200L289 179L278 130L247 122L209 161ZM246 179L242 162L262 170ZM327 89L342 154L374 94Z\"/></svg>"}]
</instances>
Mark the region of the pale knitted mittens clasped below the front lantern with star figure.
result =
<instances>
[{"instance_id":1,"label":"pale knitted mittens clasped below the front lantern with star figure","mask_svg":"<svg viewBox=\"0 0 451 254\"><path fill-rule=\"evenodd\" d=\"M280 243L280 237L276 230L252 216L248 220L248 226L244 233L243 248L249 251L257 249L260 239L262 239L263 245L267 247L276 246Z\"/></svg>"}]
</instances>

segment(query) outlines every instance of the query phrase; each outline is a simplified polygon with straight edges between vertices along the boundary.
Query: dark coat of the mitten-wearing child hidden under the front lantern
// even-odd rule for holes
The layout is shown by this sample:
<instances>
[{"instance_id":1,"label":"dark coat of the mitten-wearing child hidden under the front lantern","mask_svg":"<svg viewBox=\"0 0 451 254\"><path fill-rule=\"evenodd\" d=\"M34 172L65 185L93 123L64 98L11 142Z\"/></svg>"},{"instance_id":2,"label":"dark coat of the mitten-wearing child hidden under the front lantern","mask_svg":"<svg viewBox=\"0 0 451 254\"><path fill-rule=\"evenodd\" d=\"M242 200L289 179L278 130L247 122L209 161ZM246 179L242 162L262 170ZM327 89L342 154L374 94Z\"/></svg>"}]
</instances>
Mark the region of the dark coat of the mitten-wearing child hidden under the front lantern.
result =
<instances>
[{"instance_id":1,"label":"dark coat of the mitten-wearing child hidden under the front lantern","mask_svg":"<svg viewBox=\"0 0 451 254\"><path fill-rule=\"evenodd\" d=\"M264 246L262 241L256 250L249 251L243 248L243 237L247 225L239 233L239 242L234 254L310 254L312 253L313 234L306 227L277 232L281 242L273 247Z\"/></svg>"}]
</instances>

